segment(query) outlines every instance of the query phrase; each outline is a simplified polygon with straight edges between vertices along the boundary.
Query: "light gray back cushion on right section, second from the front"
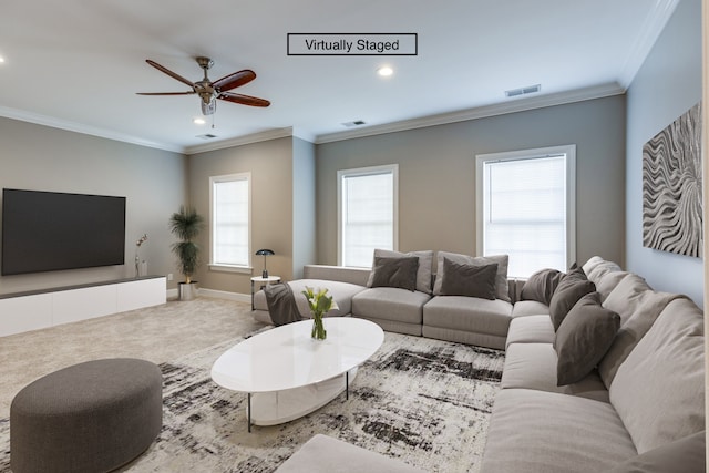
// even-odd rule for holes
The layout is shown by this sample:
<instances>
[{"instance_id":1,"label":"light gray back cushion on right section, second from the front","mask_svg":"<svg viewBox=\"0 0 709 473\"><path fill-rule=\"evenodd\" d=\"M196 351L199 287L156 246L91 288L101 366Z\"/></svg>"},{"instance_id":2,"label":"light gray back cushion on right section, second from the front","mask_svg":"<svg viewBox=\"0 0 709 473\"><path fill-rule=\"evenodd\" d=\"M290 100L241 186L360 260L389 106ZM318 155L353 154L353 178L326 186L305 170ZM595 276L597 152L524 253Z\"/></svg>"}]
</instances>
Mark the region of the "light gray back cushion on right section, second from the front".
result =
<instances>
[{"instance_id":1,"label":"light gray back cushion on right section, second from the front","mask_svg":"<svg viewBox=\"0 0 709 473\"><path fill-rule=\"evenodd\" d=\"M653 323L655 323L665 307L679 297L684 296L655 290L645 291L643 301L620 327L620 330L613 339L610 348L598 364L598 373L606 387L610 387L620 364L653 327Z\"/></svg>"}]
</instances>

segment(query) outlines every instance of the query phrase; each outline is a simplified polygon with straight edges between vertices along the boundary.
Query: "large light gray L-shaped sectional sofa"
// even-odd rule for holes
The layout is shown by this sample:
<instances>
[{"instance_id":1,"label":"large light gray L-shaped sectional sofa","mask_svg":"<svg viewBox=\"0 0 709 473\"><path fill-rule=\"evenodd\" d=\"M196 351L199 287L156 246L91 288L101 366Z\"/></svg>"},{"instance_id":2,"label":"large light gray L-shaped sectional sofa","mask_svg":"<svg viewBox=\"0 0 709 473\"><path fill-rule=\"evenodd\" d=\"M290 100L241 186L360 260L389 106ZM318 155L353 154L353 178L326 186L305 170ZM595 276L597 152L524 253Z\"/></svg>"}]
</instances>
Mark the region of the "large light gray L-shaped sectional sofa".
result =
<instances>
[{"instance_id":1,"label":"large light gray L-shaped sectional sofa","mask_svg":"<svg viewBox=\"0 0 709 473\"><path fill-rule=\"evenodd\" d=\"M446 296L435 282L430 294L368 288L367 273L306 267L309 285L331 285L342 315L506 351L483 473L705 471L703 313L688 298L600 257L535 279L536 295L532 278L508 280L508 301ZM586 281L569 277L582 273ZM263 295L257 308L267 309Z\"/></svg>"}]
</instances>

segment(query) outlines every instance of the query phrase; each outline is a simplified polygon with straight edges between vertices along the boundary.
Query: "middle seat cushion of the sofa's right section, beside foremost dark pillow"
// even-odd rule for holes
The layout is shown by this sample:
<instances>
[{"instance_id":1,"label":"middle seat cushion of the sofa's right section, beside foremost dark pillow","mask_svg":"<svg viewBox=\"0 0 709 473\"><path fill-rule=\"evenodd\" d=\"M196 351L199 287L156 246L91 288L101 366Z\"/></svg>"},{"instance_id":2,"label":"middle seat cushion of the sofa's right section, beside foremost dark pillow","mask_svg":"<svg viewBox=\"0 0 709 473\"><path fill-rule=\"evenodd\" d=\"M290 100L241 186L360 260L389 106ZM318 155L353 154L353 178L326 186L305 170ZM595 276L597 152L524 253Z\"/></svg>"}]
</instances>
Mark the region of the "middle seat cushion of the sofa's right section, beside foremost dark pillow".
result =
<instances>
[{"instance_id":1,"label":"middle seat cushion of the sofa's right section, beside foremost dark pillow","mask_svg":"<svg viewBox=\"0 0 709 473\"><path fill-rule=\"evenodd\" d=\"M596 371L592 371L578 382L557 385L556 360L556 351L552 343L511 343L505 352L501 387L558 392L609 402L608 390Z\"/></svg>"}]
</instances>

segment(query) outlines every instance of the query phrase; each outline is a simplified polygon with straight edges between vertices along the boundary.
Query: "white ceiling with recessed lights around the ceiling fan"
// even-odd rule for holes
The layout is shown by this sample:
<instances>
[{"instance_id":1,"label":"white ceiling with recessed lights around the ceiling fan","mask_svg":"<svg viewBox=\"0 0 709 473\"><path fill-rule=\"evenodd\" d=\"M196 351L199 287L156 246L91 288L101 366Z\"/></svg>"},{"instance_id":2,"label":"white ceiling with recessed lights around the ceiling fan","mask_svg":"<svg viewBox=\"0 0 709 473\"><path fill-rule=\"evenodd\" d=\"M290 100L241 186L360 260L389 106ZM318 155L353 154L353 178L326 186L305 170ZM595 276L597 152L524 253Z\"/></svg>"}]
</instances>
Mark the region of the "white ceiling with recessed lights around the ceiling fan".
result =
<instances>
[{"instance_id":1,"label":"white ceiling with recessed lights around the ceiling fan","mask_svg":"<svg viewBox=\"0 0 709 473\"><path fill-rule=\"evenodd\" d=\"M3 2L0 116L191 153L254 136L315 143L621 93L679 0L63 0ZM41 3L41 4L38 4ZM292 56L288 33L417 33L415 56ZM242 69L198 126L197 81ZM382 64L394 69L382 79ZM541 84L506 99L504 91ZM342 123L367 124L347 128ZM217 135L205 142L197 135ZM250 136L250 138L249 138Z\"/></svg>"}]
</instances>

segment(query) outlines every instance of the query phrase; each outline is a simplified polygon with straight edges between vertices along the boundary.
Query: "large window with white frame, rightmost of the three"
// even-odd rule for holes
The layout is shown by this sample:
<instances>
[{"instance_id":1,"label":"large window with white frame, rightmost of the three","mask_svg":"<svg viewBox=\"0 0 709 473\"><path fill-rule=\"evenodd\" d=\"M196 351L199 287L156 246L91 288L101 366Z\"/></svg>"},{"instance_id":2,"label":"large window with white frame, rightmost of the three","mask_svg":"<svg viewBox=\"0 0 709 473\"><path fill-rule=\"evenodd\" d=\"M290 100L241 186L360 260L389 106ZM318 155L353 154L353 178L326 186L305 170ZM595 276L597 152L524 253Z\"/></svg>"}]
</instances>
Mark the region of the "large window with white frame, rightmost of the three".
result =
<instances>
[{"instance_id":1,"label":"large window with white frame, rightmost of the three","mask_svg":"<svg viewBox=\"0 0 709 473\"><path fill-rule=\"evenodd\" d=\"M510 276L575 260L575 145L477 156L477 250L510 255Z\"/></svg>"}]
</instances>

